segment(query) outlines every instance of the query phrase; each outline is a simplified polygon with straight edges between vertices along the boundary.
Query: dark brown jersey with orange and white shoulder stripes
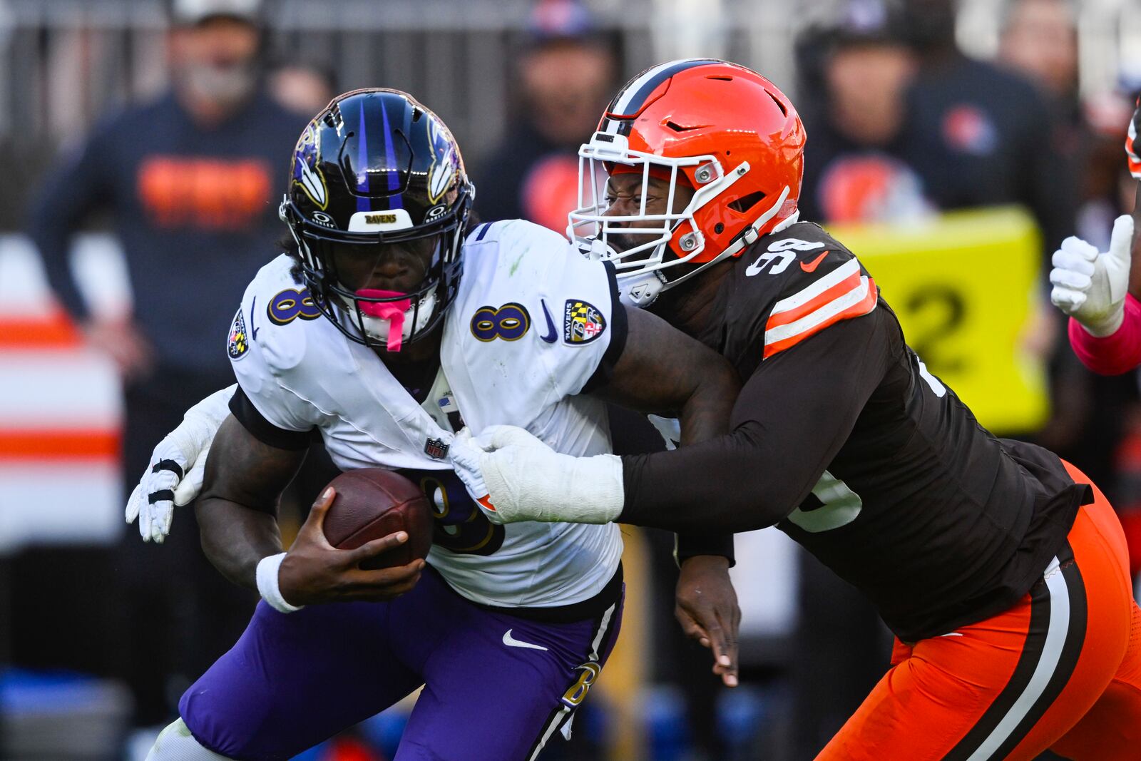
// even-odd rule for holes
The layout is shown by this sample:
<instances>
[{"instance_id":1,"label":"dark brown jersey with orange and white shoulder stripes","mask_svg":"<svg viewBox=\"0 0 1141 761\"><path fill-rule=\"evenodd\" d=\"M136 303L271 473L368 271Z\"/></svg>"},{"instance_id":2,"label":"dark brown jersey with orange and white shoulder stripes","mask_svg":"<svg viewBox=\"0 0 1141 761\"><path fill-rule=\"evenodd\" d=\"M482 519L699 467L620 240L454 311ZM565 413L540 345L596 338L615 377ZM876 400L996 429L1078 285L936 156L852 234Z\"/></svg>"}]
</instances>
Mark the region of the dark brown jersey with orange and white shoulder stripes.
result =
<instances>
[{"instance_id":1,"label":"dark brown jersey with orange and white shoulder stripes","mask_svg":"<svg viewBox=\"0 0 1141 761\"><path fill-rule=\"evenodd\" d=\"M1089 486L1052 453L984 429L907 347L848 249L792 225L746 251L717 298L701 338L745 381L733 432L624 458L620 520L775 524L861 589L904 641L1029 590Z\"/></svg>"}]
</instances>

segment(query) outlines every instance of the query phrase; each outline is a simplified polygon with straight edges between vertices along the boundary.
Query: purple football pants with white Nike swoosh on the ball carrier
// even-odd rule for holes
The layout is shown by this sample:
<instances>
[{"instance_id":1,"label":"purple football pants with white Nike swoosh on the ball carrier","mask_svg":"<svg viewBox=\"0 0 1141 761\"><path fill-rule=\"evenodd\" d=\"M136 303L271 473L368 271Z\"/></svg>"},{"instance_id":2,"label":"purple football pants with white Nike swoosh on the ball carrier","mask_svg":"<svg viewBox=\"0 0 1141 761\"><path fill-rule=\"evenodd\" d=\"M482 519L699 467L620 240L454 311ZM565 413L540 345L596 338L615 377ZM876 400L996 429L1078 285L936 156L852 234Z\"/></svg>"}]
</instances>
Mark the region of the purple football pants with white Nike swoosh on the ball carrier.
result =
<instances>
[{"instance_id":1,"label":"purple football pants with white Nike swoosh on the ball carrier","mask_svg":"<svg viewBox=\"0 0 1141 761\"><path fill-rule=\"evenodd\" d=\"M179 713L216 753L276 761L424 685L395 761L529 761L585 697L621 621L621 599L573 623L485 610L431 569L390 602L289 615L259 602Z\"/></svg>"}]
</instances>

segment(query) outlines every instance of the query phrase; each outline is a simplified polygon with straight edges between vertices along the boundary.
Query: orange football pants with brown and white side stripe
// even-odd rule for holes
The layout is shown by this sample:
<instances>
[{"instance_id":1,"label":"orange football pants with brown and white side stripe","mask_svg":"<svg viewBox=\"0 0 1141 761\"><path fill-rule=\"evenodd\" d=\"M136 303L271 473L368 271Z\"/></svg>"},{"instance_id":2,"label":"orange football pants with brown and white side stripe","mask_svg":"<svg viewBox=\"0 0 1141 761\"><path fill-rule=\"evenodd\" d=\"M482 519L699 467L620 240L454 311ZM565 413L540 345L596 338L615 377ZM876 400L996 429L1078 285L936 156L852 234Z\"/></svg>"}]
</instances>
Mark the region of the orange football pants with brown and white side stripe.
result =
<instances>
[{"instance_id":1,"label":"orange football pants with brown and white side stripe","mask_svg":"<svg viewBox=\"0 0 1141 761\"><path fill-rule=\"evenodd\" d=\"M1066 463L1075 481L1091 484ZM915 645L817 761L1141 759L1141 609L1125 534L1094 486L1018 605Z\"/></svg>"}]
</instances>

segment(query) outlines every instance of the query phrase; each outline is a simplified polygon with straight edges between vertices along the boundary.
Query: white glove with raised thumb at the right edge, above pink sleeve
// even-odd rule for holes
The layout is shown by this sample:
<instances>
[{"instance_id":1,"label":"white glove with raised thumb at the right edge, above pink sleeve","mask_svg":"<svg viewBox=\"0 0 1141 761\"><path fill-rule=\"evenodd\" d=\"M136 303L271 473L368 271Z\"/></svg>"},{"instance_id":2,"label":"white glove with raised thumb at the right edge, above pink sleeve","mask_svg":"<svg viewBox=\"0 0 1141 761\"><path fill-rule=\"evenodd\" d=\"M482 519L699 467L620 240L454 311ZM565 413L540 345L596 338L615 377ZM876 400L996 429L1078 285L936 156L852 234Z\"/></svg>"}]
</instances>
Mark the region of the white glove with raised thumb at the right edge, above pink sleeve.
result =
<instances>
[{"instance_id":1,"label":"white glove with raised thumb at the right edge, above pink sleeve","mask_svg":"<svg viewBox=\"0 0 1141 761\"><path fill-rule=\"evenodd\" d=\"M1098 250L1079 237L1068 237L1054 251L1050 300L1091 334L1109 335L1125 319L1125 293L1130 286L1130 248L1133 218L1114 221L1109 251Z\"/></svg>"}]
</instances>

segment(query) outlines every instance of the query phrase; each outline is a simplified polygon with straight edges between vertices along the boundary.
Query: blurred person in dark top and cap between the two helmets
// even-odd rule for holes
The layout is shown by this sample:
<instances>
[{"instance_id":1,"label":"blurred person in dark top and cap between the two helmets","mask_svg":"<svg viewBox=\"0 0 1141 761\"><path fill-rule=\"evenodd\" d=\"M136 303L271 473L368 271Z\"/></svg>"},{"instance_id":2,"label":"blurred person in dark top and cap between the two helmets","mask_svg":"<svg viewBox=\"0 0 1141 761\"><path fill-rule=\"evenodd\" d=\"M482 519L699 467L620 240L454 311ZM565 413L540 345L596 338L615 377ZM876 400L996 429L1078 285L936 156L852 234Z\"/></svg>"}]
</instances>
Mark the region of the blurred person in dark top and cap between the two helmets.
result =
<instances>
[{"instance_id":1,"label":"blurred person in dark top and cap between the two helmets","mask_svg":"<svg viewBox=\"0 0 1141 761\"><path fill-rule=\"evenodd\" d=\"M484 219L529 219L563 233L577 205L578 146L598 127L616 64L574 0L543 0L515 56L517 105L507 133L475 173Z\"/></svg>"}]
</instances>

